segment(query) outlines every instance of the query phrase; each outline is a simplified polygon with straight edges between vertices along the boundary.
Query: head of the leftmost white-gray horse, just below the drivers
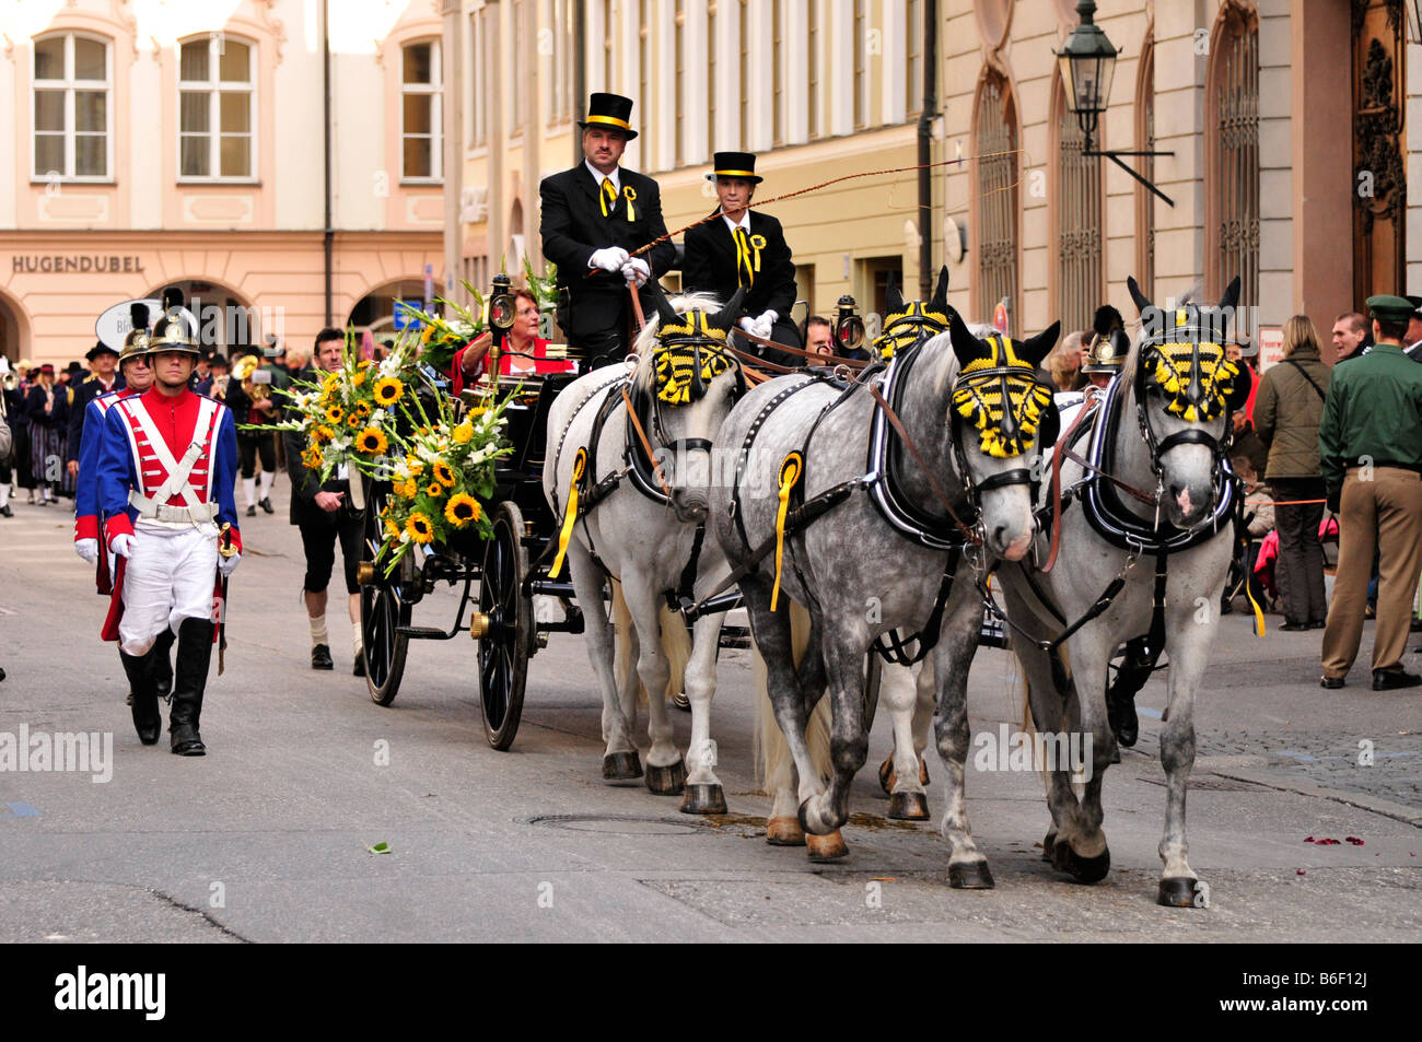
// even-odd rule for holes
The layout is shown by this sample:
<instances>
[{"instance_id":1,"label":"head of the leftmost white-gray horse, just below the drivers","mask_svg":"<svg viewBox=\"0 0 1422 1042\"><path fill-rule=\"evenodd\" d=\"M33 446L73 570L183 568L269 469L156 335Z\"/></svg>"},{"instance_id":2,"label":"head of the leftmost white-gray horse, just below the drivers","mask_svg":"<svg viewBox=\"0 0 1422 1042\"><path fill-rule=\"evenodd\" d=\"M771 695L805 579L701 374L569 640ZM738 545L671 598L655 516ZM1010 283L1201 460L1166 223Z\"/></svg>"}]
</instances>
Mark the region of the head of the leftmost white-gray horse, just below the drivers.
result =
<instances>
[{"instance_id":1,"label":"head of the leftmost white-gray horse, just below the drivers","mask_svg":"<svg viewBox=\"0 0 1422 1042\"><path fill-rule=\"evenodd\" d=\"M710 505L712 442L745 392L745 374L725 343L745 290L722 307L710 294L667 300L656 281L650 286L657 311L637 337L630 398L677 519L698 522Z\"/></svg>"}]
</instances>

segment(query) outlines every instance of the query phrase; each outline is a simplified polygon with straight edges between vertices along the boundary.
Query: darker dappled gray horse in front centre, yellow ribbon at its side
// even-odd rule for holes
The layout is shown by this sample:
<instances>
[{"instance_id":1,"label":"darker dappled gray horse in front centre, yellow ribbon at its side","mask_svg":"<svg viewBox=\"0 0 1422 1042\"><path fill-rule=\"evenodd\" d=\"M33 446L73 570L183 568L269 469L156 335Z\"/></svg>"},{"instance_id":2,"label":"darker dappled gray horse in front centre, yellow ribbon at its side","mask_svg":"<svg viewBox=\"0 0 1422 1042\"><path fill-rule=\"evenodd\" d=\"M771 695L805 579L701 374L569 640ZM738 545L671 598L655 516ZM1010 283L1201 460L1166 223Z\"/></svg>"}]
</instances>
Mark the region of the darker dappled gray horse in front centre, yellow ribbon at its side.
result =
<instances>
[{"instance_id":1,"label":"darker dappled gray horse in front centre, yellow ribbon at its side","mask_svg":"<svg viewBox=\"0 0 1422 1042\"><path fill-rule=\"evenodd\" d=\"M771 380L731 411L717 438L738 465L732 482L712 485L708 525L732 569L751 566L739 586L798 776L799 826L820 836L849 816L849 786L869 745L863 662L875 638L892 630L940 634L933 651L939 749L957 775L950 792L961 793L967 662L981 604L971 576L951 581L958 550L975 540L987 554L1014 560L1031 543L1025 463L1051 408L1035 367L1057 341L1057 326L1025 343L988 345L967 331L946 293L944 270L927 304L890 294L880 348L892 345L893 361L867 385ZM921 343L934 323L948 333ZM977 374L971 385L960 381L966 370ZM772 542L782 550L757 560L755 550ZM809 654L799 668L786 600L811 614ZM828 789L806 745L806 719L826 685ZM776 796L772 822L782 813ZM944 833L953 884L993 886L961 800L950 805Z\"/></svg>"}]
</instances>

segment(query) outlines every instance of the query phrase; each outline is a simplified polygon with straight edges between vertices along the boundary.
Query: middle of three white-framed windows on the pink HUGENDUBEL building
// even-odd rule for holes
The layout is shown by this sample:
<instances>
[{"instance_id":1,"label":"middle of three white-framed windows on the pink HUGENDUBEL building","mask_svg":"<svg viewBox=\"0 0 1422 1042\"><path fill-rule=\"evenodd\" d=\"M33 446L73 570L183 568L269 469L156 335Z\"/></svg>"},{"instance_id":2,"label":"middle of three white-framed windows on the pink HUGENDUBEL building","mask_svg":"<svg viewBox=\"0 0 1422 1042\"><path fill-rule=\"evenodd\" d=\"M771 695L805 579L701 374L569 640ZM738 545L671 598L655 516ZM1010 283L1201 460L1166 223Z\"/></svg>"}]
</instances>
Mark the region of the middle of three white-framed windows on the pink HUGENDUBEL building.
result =
<instances>
[{"instance_id":1,"label":"middle of three white-framed windows on the pink HUGENDUBEL building","mask_svg":"<svg viewBox=\"0 0 1422 1042\"><path fill-rule=\"evenodd\" d=\"M256 176L257 48L203 34L178 48L179 181Z\"/></svg>"}]
</instances>

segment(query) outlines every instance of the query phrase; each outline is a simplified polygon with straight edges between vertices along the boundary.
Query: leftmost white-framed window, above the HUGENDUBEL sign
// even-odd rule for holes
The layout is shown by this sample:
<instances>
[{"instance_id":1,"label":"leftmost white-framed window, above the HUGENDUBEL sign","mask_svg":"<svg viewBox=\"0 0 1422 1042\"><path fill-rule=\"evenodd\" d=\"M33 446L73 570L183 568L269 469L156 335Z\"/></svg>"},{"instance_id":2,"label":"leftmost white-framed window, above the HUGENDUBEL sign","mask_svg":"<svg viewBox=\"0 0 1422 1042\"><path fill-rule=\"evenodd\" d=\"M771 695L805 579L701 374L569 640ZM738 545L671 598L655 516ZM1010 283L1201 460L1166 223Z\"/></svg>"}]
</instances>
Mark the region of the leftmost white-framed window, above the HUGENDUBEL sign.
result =
<instances>
[{"instance_id":1,"label":"leftmost white-framed window, above the HUGENDUBEL sign","mask_svg":"<svg viewBox=\"0 0 1422 1042\"><path fill-rule=\"evenodd\" d=\"M34 41L34 178L107 181L114 169L112 48L63 33Z\"/></svg>"}]
</instances>

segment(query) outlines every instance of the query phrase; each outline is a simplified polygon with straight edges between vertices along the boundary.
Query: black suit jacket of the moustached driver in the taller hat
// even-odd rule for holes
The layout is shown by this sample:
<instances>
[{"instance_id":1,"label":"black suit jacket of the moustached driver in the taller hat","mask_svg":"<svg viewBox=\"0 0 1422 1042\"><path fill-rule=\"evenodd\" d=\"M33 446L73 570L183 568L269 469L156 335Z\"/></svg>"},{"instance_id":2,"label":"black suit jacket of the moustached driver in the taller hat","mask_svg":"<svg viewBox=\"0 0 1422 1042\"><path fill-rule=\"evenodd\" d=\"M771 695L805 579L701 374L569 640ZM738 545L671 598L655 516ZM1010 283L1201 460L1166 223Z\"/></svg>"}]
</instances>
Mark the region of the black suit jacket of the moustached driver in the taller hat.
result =
<instances>
[{"instance_id":1,"label":"black suit jacket of the moustached driver in the taller hat","mask_svg":"<svg viewBox=\"0 0 1422 1042\"><path fill-rule=\"evenodd\" d=\"M657 188L657 182L627 169L619 169L617 179L624 193L630 188L637 196L631 200L634 220L627 220L629 200L624 196L619 196L609 216L603 216L599 182L587 169L587 163L552 173L539 185L539 196L543 200L539 227L543 236L543 256L557 264L560 290L557 321L569 341L574 344L586 334L620 331L627 326L629 294L621 274L597 272L592 277L584 277L593 252L607 246L621 246L631 253L667 233L661 219L661 189ZM660 279L671 269L675 247L665 239L643 253L641 259L651 267L651 277ZM566 296L562 293L565 289ZM644 314L656 307L647 289L641 291L641 307Z\"/></svg>"}]
</instances>

